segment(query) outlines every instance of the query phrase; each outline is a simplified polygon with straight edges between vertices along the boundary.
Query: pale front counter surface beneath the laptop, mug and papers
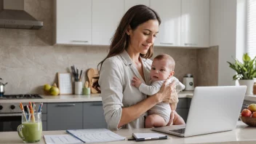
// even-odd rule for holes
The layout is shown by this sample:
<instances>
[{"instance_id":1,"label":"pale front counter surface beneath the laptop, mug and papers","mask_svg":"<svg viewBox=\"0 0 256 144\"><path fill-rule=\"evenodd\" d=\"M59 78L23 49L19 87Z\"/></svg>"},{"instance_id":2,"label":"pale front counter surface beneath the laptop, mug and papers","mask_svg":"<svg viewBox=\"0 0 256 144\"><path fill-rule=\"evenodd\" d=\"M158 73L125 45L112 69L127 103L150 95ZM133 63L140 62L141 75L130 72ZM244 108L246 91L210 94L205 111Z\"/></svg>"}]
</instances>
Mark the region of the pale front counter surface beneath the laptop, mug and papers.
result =
<instances>
[{"instance_id":1,"label":"pale front counter surface beneath the laptop, mug and papers","mask_svg":"<svg viewBox=\"0 0 256 144\"><path fill-rule=\"evenodd\" d=\"M172 126L172 127L180 127L180 126ZM236 129L228 132L218 132L214 134L208 135L199 135L193 137L176 137L174 135L168 135L167 140L150 140L140 143L161 143L161 144L169 144L169 143L225 143L225 144L255 144L256 127L247 127L246 124L238 121ZM123 137L131 137L132 132L154 132L151 129L119 129L117 131L113 131L118 135ZM65 131L44 131L43 135L63 135L66 134ZM20 137L17 135L17 132L0 132L0 143L23 143ZM41 137L39 144L44 143L44 138ZM133 140L121 140L116 142L109 143L120 143L120 144L129 144L129 143L137 143Z\"/></svg>"}]
</instances>

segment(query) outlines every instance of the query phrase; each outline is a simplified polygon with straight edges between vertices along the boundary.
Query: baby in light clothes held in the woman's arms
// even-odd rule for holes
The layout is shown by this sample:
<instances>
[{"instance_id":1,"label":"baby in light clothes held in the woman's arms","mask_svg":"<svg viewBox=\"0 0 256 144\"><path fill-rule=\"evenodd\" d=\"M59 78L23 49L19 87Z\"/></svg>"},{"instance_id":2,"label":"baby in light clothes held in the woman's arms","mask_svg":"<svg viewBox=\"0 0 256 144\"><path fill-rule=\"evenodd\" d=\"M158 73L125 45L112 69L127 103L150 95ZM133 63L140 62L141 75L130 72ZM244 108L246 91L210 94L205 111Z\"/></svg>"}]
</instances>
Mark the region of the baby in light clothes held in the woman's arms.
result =
<instances>
[{"instance_id":1,"label":"baby in light clothes held in the woman's arms","mask_svg":"<svg viewBox=\"0 0 256 144\"><path fill-rule=\"evenodd\" d=\"M134 77L132 79L132 86L140 89L145 95L154 95L159 92L161 85L164 81L170 77L168 84L174 82L174 87L172 89L172 95L177 95L177 92L185 89L185 86L177 79L175 76L175 60L169 55L157 55L153 59L151 66L151 85L143 84L140 79ZM174 116L174 111L176 110L177 103L159 103L155 105L148 111L148 115L145 119L145 127L164 127L168 124L170 120L170 113L172 111L172 118ZM175 121L183 121L181 118L175 118Z\"/></svg>"}]
</instances>

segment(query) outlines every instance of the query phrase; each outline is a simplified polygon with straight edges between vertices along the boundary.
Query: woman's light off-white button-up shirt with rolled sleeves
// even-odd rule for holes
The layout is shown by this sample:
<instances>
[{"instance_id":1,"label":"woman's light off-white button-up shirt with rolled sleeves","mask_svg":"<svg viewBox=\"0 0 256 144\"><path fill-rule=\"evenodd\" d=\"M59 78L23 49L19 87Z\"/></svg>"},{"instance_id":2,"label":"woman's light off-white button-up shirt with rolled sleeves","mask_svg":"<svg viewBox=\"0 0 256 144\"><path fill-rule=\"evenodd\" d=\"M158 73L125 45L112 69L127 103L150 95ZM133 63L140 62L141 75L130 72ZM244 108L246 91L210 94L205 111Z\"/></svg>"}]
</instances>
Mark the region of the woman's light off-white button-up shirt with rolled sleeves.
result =
<instances>
[{"instance_id":1,"label":"woman's light off-white button-up shirt with rolled sleeves","mask_svg":"<svg viewBox=\"0 0 256 144\"><path fill-rule=\"evenodd\" d=\"M132 87L131 84L134 76L144 84L149 84L152 60L141 58L141 61L145 81L125 50L120 55L109 57L103 63L99 84L108 129L117 129L122 108L135 105L147 98L147 95L141 93L136 87ZM146 115L147 113L143 113L122 128L143 128Z\"/></svg>"}]
</instances>

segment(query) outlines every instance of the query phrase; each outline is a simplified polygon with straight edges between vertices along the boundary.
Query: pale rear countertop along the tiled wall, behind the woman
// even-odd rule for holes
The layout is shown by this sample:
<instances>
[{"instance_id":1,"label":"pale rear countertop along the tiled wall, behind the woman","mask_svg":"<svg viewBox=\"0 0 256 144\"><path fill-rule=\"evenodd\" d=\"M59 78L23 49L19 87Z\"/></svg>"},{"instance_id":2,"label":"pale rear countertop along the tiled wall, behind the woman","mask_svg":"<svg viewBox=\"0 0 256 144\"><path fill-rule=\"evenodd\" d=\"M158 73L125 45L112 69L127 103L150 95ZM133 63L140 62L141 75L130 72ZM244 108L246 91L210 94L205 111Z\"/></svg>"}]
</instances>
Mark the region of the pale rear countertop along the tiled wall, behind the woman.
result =
<instances>
[{"instance_id":1,"label":"pale rear countertop along the tiled wall, behind the woman","mask_svg":"<svg viewBox=\"0 0 256 144\"><path fill-rule=\"evenodd\" d=\"M180 92L179 98L192 98L193 91ZM0 103L69 103L69 102L95 102L102 101L100 94L92 95L41 95L43 99L22 99L22 100L0 100ZM244 100L256 102L256 95L245 95Z\"/></svg>"}]
</instances>

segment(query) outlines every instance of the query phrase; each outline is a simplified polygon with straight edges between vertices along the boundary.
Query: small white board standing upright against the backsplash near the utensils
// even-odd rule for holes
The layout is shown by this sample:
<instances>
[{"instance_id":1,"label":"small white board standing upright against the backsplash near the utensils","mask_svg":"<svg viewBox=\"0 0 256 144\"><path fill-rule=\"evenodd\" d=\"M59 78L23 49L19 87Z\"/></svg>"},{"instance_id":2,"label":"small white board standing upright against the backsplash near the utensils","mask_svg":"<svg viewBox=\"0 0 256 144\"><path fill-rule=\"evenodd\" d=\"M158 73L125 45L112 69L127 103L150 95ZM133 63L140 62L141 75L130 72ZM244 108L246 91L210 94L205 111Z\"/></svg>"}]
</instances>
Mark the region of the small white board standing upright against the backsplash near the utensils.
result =
<instances>
[{"instance_id":1,"label":"small white board standing upright against the backsplash near the utensils","mask_svg":"<svg viewBox=\"0 0 256 144\"><path fill-rule=\"evenodd\" d=\"M71 73L57 73L60 95L73 95Z\"/></svg>"}]
</instances>

